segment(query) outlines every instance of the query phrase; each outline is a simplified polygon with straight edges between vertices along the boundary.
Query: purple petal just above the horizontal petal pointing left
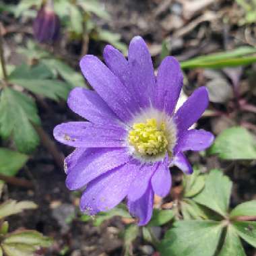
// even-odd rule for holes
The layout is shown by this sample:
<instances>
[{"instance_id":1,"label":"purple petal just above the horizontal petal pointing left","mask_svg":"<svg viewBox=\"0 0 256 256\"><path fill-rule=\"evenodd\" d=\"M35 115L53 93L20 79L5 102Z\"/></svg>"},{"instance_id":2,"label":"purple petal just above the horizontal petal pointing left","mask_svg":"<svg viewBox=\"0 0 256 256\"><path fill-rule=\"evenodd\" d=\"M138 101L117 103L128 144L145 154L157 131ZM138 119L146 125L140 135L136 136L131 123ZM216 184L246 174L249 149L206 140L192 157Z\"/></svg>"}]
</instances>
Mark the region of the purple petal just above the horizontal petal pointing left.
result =
<instances>
[{"instance_id":1,"label":"purple petal just above the horizontal petal pointing left","mask_svg":"<svg viewBox=\"0 0 256 256\"><path fill-rule=\"evenodd\" d=\"M69 94L67 104L73 112L92 123L117 123L117 115L92 90L80 87L73 89Z\"/></svg>"}]
</instances>

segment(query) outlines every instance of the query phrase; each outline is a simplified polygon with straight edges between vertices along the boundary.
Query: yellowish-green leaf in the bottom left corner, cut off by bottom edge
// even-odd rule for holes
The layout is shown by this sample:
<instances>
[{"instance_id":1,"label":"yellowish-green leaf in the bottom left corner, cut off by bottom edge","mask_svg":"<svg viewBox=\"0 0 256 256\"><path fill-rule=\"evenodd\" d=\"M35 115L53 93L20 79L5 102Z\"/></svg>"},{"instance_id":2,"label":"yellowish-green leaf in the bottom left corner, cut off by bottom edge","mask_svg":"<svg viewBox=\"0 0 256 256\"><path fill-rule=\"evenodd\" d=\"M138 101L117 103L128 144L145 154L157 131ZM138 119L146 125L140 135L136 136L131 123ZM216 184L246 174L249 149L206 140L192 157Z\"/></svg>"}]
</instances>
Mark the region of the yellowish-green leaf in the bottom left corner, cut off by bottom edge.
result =
<instances>
[{"instance_id":1,"label":"yellowish-green leaf in the bottom left corner, cut off by bottom edge","mask_svg":"<svg viewBox=\"0 0 256 256\"><path fill-rule=\"evenodd\" d=\"M49 247L53 241L34 230L22 230L9 234L1 243L8 256L33 256L38 247Z\"/></svg>"}]
</instances>

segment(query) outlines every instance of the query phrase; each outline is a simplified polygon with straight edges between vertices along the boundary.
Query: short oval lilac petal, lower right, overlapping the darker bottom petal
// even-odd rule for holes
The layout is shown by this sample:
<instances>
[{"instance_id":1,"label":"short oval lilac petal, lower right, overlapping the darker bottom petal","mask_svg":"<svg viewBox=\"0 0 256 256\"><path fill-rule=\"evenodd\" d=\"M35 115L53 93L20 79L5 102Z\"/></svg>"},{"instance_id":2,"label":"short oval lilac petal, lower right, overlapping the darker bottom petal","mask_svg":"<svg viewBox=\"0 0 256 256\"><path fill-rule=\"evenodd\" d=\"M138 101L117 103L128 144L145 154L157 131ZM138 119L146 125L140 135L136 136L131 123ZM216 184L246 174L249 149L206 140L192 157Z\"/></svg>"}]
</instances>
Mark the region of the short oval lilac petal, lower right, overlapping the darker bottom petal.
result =
<instances>
[{"instance_id":1,"label":"short oval lilac petal, lower right, overlapping the darker bottom petal","mask_svg":"<svg viewBox=\"0 0 256 256\"><path fill-rule=\"evenodd\" d=\"M172 179L170 177L170 170L167 161L159 164L156 172L154 172L151 179L152 189L156 195L165 197L170 192L172 186Z\"/></svg>"}]
</instances>

